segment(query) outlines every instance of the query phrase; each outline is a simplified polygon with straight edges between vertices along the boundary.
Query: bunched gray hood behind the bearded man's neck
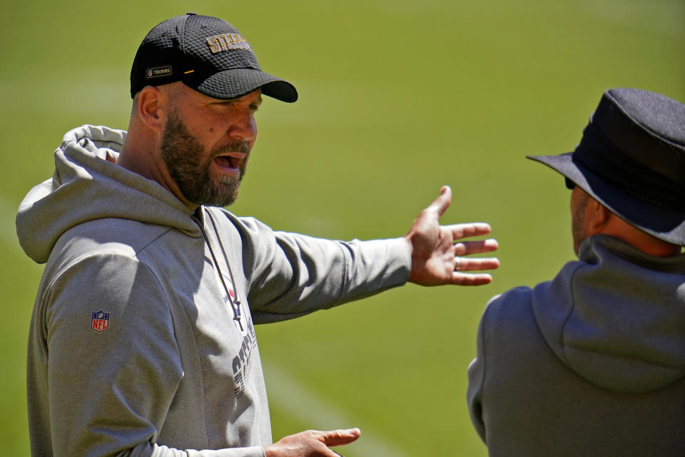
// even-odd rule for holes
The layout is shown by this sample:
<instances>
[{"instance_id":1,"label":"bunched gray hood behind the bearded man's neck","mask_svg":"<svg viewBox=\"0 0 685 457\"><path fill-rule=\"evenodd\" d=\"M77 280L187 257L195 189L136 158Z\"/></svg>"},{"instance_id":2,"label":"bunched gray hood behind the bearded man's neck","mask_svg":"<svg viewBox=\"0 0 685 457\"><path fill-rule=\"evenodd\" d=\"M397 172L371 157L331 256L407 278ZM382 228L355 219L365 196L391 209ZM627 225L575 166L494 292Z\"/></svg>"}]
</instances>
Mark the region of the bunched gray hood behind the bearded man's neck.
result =
<instances>
[{"instance_id":1,"label":"bunched gray hood behind the bearded man's neck","mask_svg":"<svg viewBox=\"0 0 685 457\"><path fill-rule=\"evenodd\" d=\"M53 177L19 206L16 233L26 255L45 263L62 233L94 219L131 219L201 236L190 209L170 191L107 160L116 161L125 139L126 131L88 125L64 135Z\"/></svg>"}]
</instances>

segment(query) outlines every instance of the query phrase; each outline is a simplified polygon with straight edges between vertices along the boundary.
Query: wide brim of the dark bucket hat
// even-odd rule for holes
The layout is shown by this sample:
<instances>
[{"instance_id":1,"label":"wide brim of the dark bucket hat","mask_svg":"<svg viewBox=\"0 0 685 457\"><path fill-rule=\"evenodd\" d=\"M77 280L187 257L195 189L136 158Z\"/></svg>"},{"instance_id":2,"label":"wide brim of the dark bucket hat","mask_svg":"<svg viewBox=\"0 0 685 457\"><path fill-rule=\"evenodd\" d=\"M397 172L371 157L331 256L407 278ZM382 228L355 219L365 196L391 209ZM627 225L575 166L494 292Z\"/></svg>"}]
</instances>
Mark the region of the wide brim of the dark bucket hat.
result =
<instances>
[{"instance_id":1,"label":"wide brim of the dark bucket hat","mask_svg":"<svg viewBox=\"0 0 685 457\"><path fill-rule=\"evenodd\" d=\"M632 226L669 243L685 245L685 212L655 206L608 184L573 159L559 156L527 156L559 172Z\"/></svg>"}]
</instances>

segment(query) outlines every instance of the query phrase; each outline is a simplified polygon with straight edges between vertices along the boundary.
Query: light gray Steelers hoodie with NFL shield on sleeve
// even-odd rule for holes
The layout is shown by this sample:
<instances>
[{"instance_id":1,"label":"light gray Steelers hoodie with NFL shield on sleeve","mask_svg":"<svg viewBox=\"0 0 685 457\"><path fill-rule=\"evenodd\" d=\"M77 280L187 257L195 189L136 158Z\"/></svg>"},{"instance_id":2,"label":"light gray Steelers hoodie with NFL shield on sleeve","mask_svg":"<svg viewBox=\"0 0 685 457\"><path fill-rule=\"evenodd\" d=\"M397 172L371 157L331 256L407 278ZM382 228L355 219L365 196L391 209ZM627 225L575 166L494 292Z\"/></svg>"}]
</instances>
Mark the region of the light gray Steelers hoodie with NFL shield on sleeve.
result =
<instances>
[{"instance_id":1,"label":"light gray Steelers hoodie with NFL shield on sleeve","mask_svg":"<svg viewBox=\"0 0 685 457\"><path fill-rule=\"evenodd\" d=\"M405 283L402 238L280 233L219 208L194 214L110 161L125 131L82 126L19 208L45 263L27 388L35 456L263 456L271 443L254 323Z\"/></svg>"}]
</instances>

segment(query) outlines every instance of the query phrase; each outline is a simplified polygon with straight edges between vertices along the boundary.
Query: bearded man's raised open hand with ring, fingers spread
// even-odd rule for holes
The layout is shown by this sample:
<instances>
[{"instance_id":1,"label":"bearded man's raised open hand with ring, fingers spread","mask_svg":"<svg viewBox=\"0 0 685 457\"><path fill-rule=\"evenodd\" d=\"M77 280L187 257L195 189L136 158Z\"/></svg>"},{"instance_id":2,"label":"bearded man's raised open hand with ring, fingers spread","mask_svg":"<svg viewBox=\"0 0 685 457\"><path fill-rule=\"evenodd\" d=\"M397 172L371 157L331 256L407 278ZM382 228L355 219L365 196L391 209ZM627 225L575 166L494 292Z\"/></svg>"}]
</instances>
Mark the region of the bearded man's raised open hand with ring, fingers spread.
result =
<instances>
[{"instance_id":1,"label":"bearded man's raised open hand with ring, fingers spread","mask_svg":"<svg viewBox=\"0 0 685 457\"><path fill-rule=\"evenodd\" d=\"M445 186L440 196L421 211L405 236L412 253L412 272L409 281L422 286L457 284L481 286L492 281L487 273L463 271L492 270L499 266L497 258L465 258L473 253L494 251L497 241L459 241L468 236L490 233L490 226L482 222L440 225L440 216L449 208L452 190Z\"/></svg>"}]
</instances>

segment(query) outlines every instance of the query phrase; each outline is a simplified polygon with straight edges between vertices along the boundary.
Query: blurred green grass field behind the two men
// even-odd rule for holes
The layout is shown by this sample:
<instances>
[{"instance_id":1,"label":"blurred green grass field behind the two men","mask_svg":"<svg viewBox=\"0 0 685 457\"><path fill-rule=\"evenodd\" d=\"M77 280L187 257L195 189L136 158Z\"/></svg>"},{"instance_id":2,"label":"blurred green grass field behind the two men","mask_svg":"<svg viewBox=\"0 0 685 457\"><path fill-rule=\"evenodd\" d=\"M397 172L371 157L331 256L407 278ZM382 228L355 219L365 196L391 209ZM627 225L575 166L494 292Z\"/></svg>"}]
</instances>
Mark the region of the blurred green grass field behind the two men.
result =
<instances>
[{"instance_id":1,"label":"blurred green grass field behind the two men","mask_svg":"<svg viewBox=\"0 0 685 457\"><path fill-rule=\"evenodd\" d=\"M408 285L258 327L274 438L358 426L347 457L486 455L465 404L484 303L572 256L563 181L524 156L571 151L609 87L685 101L685 1L5 0L3 455L29 455L26 335L42 270L16 242L16 207L68 129L126 129L138 44L186 11L233 23L300 92L265 100L231 211L315 236L402 236L449 184L442 221L487 221L500 243L489 286Z\"/></svg>"}]
</instances>

